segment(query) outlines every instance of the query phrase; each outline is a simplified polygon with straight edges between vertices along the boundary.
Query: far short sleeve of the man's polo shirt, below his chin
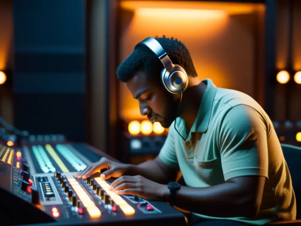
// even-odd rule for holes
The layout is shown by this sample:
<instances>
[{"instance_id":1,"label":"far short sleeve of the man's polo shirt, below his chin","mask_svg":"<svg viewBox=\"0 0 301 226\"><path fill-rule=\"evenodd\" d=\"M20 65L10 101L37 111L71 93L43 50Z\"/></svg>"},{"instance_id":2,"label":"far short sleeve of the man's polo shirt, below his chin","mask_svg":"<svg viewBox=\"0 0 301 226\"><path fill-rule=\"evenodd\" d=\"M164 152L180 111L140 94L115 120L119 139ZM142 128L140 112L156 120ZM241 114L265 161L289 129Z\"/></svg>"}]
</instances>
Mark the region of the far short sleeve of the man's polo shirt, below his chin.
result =
<instances>
[{"instance_id":1,"label":"far short sleeve of the man's polo shirt, below his chin","mask_svg":"<svg viewBox=\"0 0 301 226\"><path fill-rule=\"evenodd\" d=\"M178 167L178 159L175 153L175 129L174 122L169 127L169 132L164 142L163 147L159 153L159 159L166 165L171 167Z\"/></svg>"}]
</instances>

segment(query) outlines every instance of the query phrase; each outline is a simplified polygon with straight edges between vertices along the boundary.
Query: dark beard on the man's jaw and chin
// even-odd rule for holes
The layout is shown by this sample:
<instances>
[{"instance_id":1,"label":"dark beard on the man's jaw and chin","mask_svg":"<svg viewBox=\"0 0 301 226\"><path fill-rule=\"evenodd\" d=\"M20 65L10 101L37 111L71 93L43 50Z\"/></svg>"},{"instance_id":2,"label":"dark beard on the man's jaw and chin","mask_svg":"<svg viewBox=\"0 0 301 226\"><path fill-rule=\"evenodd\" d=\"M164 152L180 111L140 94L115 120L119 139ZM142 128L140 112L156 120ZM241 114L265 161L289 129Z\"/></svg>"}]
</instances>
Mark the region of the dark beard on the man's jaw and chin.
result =
<instances>
[{"instance_id":1,"label":"dark beard on the man's jaw and chin","mask_svg":"<svg viewBox=\"0 0 301 226\"><path fill-rule=\"evenodd\" d=\"M163 115L159 115L156 112L154 112L154 115L156 117L161 118L159 122L162 127L169 128L172 122L175 120L175 118L178 117L178 114L180 113L178 112L179 105L180 105L180 99L174 100L172 96L168 96L166 103L164 105L165 107L164 107Z\"/></svg>"}]
</instances>

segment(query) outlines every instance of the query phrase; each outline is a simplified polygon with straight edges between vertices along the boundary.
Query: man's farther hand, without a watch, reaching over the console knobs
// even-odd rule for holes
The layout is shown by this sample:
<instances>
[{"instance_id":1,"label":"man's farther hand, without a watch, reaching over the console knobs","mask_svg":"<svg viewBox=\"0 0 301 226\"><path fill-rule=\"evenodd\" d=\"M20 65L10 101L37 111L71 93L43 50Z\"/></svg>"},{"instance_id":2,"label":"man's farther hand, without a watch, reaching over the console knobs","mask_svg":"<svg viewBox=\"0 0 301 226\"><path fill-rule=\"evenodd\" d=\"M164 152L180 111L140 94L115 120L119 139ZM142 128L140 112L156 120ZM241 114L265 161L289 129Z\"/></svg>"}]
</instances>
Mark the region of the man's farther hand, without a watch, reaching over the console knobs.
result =
<instances>
[{"instance_id":1,"label":"man's farther hand, without a watch, reaching over the console knobs","mask_svg":"<svg viewBox=\"0 0 301 226\"><path fill-rule=\"evenodd\" d=\"M103 172L100 177L106 180L110 177L122 176L131 165L113 162L105 157L102 157L98 162L88 165L84 170L79 171L75 177L86 179L92 174L99 172L101 169L107 168L108 170Z\"/></svg>"}]
</instances>

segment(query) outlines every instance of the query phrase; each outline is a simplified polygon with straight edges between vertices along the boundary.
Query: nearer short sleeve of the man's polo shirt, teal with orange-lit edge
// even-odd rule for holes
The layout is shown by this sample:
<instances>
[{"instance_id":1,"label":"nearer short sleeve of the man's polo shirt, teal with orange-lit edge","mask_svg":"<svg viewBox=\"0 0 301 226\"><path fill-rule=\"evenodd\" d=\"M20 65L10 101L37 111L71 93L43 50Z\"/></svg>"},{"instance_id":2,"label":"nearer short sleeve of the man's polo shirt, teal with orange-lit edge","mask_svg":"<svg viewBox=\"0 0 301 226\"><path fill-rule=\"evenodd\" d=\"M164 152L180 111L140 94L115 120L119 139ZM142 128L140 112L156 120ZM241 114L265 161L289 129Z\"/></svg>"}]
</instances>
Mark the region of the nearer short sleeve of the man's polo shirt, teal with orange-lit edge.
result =
<instances>
[{"instance_id":1,"label":"nearer short sleeve of the man's polo shirt, teal with orange-lit edge","mask_svg":"<svg viewBox=\"0 0 301 226\"><path fill-rule=\"evenodd\" d=\"M267 126L254 108L237 105L221 124L219 146L225 181L233 177L268 178Z\"/></svg>"}]
</instances>

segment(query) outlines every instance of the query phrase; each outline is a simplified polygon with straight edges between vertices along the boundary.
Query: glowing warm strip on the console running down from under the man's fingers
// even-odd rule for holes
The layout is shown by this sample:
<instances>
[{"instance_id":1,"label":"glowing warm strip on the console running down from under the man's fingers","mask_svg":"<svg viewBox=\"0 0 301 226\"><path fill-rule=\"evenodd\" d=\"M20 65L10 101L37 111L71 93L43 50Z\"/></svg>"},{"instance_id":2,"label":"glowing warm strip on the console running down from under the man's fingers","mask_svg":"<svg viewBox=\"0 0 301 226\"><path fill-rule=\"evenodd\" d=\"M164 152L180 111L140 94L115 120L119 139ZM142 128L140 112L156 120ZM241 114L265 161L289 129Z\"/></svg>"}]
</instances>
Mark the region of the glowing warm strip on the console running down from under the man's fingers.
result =
<instances>
[{"instance_id":1,"label":"glowing warm strip on the console running down from under the man's fingers","mask_svg":"<svg viewBox=\"0 0 301 226\"><path fill-rule=\"evenodd\" d=\"M94 180L111 197L116 205L120 207L125 215L129 216L135 214L135 209L132 206L130 206L121 196L109 190L110 185L107 181L102 180L100 177L94 177Z\"/></svg>"}]
</instances>

